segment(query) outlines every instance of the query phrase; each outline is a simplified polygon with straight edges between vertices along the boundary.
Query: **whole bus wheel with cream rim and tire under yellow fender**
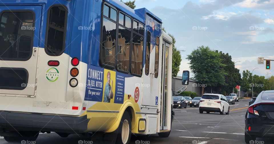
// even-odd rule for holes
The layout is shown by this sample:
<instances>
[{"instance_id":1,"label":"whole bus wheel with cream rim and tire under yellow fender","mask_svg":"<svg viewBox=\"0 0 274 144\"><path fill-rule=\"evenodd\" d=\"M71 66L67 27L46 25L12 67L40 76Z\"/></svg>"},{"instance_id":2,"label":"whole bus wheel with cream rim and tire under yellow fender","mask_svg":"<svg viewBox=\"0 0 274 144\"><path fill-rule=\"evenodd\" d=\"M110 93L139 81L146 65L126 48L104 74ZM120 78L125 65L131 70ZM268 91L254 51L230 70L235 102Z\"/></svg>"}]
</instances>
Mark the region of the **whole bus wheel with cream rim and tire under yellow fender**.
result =
<instances>
[{"instance_id":1,"label":"whole bus wheel with cream rim and tire under yellow fender","mask_svg":"<svg viewBox=\"0 0 274 144\"><path fill-rule=\"evenodd\" d=\"M118 136L116 144L128 144L131 138L131 118L127 111L125 111L119 125Z\"/></svg>"}]
</instances>

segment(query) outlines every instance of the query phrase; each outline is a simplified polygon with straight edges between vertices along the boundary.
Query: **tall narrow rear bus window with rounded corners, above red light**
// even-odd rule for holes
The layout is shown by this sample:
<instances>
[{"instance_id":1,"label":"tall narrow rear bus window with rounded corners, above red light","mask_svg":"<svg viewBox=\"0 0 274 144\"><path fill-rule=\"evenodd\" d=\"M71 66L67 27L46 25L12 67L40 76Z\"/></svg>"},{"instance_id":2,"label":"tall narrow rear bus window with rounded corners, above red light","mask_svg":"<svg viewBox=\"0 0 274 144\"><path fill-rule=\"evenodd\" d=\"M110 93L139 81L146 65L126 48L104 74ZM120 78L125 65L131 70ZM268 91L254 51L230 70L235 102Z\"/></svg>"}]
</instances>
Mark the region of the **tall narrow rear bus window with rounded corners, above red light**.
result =
<instances>
[{"instance_id":1,"label":"tall narrow rear bus window with rounded corners, above red light","mask_svg":"<svg viewBox=\"0 0 274 144\"><path fill-rule=\"evenodd\" d=\"M58 5L49 9L45 50L50 56L59 56L65 50L67 15L65 6Z\"/></svg>"}]
</instances>

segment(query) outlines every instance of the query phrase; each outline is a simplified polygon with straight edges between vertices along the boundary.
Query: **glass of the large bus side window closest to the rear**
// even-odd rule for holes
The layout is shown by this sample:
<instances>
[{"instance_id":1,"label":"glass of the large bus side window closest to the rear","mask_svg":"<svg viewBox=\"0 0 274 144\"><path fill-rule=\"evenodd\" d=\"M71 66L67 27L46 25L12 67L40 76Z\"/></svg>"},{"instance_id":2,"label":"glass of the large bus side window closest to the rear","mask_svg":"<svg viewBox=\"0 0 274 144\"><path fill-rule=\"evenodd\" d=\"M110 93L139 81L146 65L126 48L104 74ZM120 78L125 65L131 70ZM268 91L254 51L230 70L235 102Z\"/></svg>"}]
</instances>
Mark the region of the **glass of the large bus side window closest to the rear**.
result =
<instances>
[{"instance_id":1,"label":"glass of the large bus side window closest to the rear","mask_svg":"<svg viewBox=\"0 0 274 144\"><path fill-rule=\"evenodd\" d=\"M116 47L117 11L107 5L103 7L102 45L100 62L104 66L114 68ZM108 13L107 13L108 11Z\"/></svg>"}]
</instances>

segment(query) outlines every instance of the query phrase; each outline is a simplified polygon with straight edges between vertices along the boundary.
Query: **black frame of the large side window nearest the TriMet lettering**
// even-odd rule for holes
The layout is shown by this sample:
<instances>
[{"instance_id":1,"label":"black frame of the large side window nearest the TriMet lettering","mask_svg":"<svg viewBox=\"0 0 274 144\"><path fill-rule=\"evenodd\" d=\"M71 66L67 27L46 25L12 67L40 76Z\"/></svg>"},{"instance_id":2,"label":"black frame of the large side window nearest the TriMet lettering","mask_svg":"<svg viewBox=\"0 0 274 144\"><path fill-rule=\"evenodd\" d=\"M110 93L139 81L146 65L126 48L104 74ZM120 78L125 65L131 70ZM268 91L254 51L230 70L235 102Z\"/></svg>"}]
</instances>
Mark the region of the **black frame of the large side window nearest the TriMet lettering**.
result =
<instances>
[{"instance_id":1,"label":"black frame of the large side window nearest the TriMet lettering","mask_svg":"<svg viewBox=\"0 0 274 144\"><path fill-rule=\"evenodd\" d=\"M136 35L139 35L139 36L141 36L141 37L143 37L143 51L142 51L142 66L141 66L141 68L142 68L142 70L141 70L141 74L140 75L138 75L138 74L134 74L134 73L132 73L132 71L131 71L131 56L132 56L132 49L130 50L130 74L132 75L132 76L138 76L138 77L142 77L142 75L143 75L143 67L144 67L144 46L145 46L145 33L144 33L144 35L140 35L139 34L139 31L138 31L138 33L136 33L136 32L134 32L133 31L133 21L135 21L135 22L137 22L137 23L140 23L140 21L138 21L138 20L136 20L136 19L134 19L134 18L132 18L132 23L131 23L131 29L132 29L132 31L131 31L131 43L132 43L132 41L133 41L133 33L135 33ZM142 25L144 25L143 23L141 23ZM132 46L133 46L133 44L132 44ZM132 46L131 46L131 48L132 48Z\"/></svg>"}]
</instances>

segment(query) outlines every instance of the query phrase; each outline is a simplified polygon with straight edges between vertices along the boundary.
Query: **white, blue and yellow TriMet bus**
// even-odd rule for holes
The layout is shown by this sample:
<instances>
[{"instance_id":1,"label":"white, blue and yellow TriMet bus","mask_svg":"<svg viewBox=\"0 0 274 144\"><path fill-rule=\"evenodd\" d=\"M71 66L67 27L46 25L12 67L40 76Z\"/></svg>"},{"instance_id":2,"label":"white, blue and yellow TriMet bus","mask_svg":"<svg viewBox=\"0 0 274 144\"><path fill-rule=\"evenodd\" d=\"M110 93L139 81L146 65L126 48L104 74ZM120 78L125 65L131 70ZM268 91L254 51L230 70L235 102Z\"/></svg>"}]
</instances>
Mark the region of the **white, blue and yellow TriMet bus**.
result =
<instances>
[{"instance_id":1,"label":"white, blue and yellow TriMet bus","mask_svg":"<svg viewBox=\"0 0 274 144\"><path fill-rule=\"evenodd\" d=\"M168 137L172 38L120 0L1 0L0 135ZM96 132L96 133L95 133ZM105 136L106 138L106 136Z\"/></svg>"}]
</instances>

